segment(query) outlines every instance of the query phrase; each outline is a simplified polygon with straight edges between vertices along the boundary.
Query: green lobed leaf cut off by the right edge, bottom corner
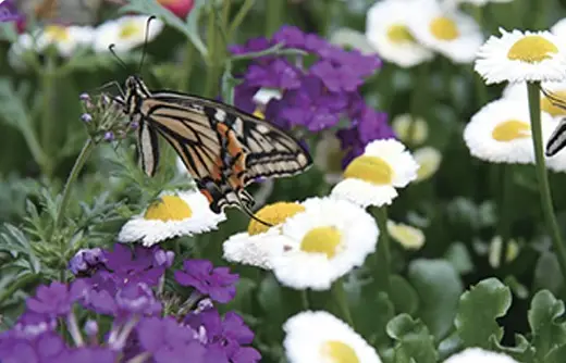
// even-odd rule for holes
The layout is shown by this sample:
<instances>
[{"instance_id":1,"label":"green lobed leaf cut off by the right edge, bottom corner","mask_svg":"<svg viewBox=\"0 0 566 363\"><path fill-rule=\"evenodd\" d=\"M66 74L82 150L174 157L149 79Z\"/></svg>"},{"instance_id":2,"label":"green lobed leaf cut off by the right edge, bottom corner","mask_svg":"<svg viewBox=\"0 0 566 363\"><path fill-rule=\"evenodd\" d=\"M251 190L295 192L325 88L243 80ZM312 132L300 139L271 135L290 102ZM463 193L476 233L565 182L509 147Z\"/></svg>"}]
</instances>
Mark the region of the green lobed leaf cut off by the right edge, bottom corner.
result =
<instances>
[{"instance_id":1,"label":"green lobed leaf cut off by the right edge, bottom corner","mask_svg":"<svg viewBox=\"0 0 566 363\"><path fill-rule=\"evenodd\" d=\"M532 345L537 359L546 362L546 354L566 343L566 323L558 320L564 314L564 302L549 290L537 292L529 310L529 325L532 331Z\"/></svg>"}]
</instances>

